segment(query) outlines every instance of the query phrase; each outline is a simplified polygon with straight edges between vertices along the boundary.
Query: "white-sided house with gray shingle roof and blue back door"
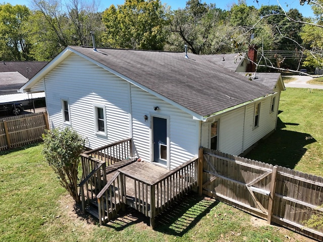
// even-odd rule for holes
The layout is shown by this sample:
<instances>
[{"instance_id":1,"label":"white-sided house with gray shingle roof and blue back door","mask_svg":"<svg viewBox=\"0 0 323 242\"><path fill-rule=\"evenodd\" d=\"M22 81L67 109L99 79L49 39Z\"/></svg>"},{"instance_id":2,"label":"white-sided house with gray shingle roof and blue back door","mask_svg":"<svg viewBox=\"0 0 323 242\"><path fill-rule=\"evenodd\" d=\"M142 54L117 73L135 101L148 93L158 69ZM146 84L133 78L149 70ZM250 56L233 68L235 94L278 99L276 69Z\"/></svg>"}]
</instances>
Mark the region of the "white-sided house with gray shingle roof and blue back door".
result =
<instances>
[{"instance_id":1,"label":"white-sided house with gray shingle roof and blue back door","mask_svg":"<svg viewBox=\"0 0 323 242\"><path fill-rule=\"evenodd\" d=\"M200 146L238 155L276 129L280 74L249 80L210 58L68 46L20 91L44 90L50 127L89 148L131 137L134 156L173 169Z\"/></svg>"}]
</instances>

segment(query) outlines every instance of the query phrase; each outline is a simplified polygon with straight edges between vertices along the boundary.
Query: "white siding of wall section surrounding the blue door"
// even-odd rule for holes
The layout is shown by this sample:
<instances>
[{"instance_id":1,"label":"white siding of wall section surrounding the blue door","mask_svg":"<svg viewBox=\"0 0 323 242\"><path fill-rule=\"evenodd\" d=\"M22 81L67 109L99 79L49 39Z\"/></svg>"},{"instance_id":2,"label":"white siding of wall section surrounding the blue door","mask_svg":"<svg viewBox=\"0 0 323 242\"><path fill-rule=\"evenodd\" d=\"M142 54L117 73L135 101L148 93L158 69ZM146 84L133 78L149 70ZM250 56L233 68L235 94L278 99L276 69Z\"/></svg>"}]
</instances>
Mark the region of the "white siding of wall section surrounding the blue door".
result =
<instances>
[{"instance_id":1,"label":"white siding of wall section surrounding the blue door","mask_svg":"<svg viewBox=\"0 0 323 242\"><path fill-rule=\"evenodd\" d=\"M194 120L191 115L133 85L131 99L135 155L149 162L152 159L150 118L154 114L170 117L170 169L198 155L198 120ZM158 106L159 110L154 110L154 106ZM144 115L148 116L148 120L145 121Z\"/></svg>"}]
</instances>

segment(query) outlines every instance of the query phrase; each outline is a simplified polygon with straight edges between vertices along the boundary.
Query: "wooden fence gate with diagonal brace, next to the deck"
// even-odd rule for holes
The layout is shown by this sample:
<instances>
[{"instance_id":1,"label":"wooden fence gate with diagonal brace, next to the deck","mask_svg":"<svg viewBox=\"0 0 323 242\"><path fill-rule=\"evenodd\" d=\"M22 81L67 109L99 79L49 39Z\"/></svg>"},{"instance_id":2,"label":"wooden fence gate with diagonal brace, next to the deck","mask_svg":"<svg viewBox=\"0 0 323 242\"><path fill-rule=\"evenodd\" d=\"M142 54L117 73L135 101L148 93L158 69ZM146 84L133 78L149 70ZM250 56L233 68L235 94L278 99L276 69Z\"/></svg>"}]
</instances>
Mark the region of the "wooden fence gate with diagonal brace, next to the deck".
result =
<instances>
[{"instance_id":1,"label":"wooden fence gate with diagonal brace, next to the deck","mask_svg":"<svg viewBox=\"0 0 323 242\"><path fill-rule=\"evenodd\" d=\"M218 151L203 152L203 193L264 219L273 206L272 176L273 165L259 167L255 161L245 163Z\"/></svg>"}]
</instances>

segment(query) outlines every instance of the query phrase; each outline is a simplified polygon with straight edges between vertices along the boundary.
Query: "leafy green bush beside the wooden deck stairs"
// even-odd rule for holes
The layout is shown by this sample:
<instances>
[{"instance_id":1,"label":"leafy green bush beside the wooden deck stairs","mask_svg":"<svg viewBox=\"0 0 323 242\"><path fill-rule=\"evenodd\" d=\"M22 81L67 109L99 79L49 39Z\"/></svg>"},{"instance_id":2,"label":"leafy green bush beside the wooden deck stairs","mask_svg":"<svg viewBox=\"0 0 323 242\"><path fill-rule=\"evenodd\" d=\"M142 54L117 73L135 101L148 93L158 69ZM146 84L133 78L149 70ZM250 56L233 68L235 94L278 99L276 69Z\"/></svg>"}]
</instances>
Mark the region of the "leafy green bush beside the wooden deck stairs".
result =
<instances>
[{"instance_id":1,"label":"leafy green bush beside the wooden deck stairs","mask_svg":"<svg viewBox=\"0 0 323 242\"><path fill-rule=\"evenodd\" d=\"M42 154L51 168L58 174L61 185L70 193L76 203L80 202L78 193L78 167L80 154L85 141L75 130L53 129L43 135Z\"/></svg>"}]
</instances>

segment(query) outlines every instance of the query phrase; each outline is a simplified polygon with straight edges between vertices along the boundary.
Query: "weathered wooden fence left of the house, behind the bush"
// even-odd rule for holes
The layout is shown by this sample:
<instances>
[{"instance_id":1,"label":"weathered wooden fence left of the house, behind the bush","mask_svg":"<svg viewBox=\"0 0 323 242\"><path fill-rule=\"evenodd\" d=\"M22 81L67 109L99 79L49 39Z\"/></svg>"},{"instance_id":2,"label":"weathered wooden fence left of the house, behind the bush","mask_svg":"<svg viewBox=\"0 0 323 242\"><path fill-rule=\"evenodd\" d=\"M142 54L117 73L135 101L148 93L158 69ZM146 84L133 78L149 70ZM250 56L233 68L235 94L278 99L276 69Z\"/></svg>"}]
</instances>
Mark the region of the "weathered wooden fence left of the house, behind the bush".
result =
<instances>
[{"instance_id":1,"label":"weathered wooden fence left of the house, behind the bush","mask_svg":"<svg viewBox=\"0 0 323 242\"><path fill-rule=\"evenodd\" d=\"M39 142L45 129L49 129L47 112L2 118L0 151Z\"/></svg>"}]
</instances>

